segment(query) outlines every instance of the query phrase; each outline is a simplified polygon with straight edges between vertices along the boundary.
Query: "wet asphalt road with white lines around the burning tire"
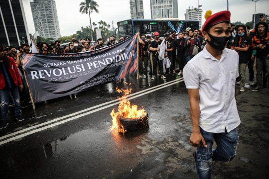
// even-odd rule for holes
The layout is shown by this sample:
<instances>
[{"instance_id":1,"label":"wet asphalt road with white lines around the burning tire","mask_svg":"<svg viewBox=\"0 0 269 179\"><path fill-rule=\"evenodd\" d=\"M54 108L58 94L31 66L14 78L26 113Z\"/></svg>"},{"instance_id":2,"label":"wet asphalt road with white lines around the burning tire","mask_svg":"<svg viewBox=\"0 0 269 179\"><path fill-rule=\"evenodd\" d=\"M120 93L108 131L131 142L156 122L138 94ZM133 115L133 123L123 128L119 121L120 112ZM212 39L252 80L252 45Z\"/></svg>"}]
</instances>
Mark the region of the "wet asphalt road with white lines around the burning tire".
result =
<instances>
[{"instance_id":1,"label":"wet asphalt road with white lines around the burning tire","mask_svg":"<svg viewBox=\"0 0 269 179\"><path fill-rule=\"evenodd\" d=\"M135 77L131 75L126 82L132 83L129 87L134 96L140 91L143 95L131 102L145 108L149 125L124 135L110 131L110 113L118 106L111 102L118 101L116 83L36 103L35 111L31 106L24 107L23 122L14 120L10 108L10 125L0 131L0 137L18 134L0 142L28 132L32 134L0 145L0 178L196 179L192 157L195 148L188 142L192 127L184 81L177 80L171 85L169 82L180 77L154 81ZM126 87L123 83L118 86ZM155 87L164 88L152 91ZM269 90L252 92L253 87L246 87L245 92L239 92L239 87L237 91L241 117L237 156L231 163L212 162L212 178L269 178ZM96 105L100 107L88 110ZM84 112L74 114L81 110ZM66 115L69 116L57 122L70 121L27 130ZM71 120L72 117L76 119ZM52 126L36 131L49 125ZM21 133L23 129L27 131Z\"/></svg>"}]
</instances>

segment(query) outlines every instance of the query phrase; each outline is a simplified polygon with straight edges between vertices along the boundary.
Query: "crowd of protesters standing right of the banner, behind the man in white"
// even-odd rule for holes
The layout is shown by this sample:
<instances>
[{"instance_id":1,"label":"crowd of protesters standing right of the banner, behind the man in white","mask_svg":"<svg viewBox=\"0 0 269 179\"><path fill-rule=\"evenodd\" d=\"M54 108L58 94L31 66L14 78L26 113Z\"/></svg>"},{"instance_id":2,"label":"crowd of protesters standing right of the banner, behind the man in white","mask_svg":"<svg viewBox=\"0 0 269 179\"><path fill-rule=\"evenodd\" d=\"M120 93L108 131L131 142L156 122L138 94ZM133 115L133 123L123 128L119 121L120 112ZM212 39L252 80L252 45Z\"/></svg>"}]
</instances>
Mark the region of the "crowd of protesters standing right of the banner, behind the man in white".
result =
<instances>
[{"instance_id":1,"label":"crowd of protesters standing right of the banner, behind the man in white","mask_svg":"<svg viewBox=\"0 0 269 179\"><path fill-rule=\"evenodd\" d=\"M244 92L246 85L246 69L249 69L249 84L254 92L263 88L268 88L269 79L269 31L264 17L256 24L252 31L249 26L231 24L231 39L226 48L235 50L239 54L239 72L237 85L240 85L240 91ZM139 33L136 33L139 36ZM211 39L214 39L212 36ZM166 79L165 76L174 76L176 62L179 66L178 76L183 76L184 66L207 44L201 29L186 28L178 34L175 31L167 32L164 35L165 58L171 63L170 68L164 69L163 60L159 59L159 51L162 40L158 32L152 36L141 34L139 40L139 78L146 78L147 65L150 67L149 75L154 80L157 77ZM218 43L218 42L216 42ZM254 68L256 67L257 83L254 82ZM165 70L165 72L164 72Z\"/></svg>"}]
</instances>

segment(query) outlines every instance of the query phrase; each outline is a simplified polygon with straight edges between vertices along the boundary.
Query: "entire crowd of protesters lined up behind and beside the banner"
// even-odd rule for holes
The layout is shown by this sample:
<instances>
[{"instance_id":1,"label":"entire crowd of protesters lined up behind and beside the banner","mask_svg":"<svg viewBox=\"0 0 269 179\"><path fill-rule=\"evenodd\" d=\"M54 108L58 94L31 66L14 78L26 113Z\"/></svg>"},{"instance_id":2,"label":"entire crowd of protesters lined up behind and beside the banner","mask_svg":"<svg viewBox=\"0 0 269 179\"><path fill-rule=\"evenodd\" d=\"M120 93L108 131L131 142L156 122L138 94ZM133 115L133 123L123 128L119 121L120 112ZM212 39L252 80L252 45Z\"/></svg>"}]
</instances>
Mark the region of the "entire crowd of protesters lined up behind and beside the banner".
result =
<instances>
[{"instance_id":1,"label":"entire crowd of protesters lined up behind and beside the banner","mask_svg":"<svg viewBox=\"0 0 269 179\"><path fill-rule=\"evenodd\" d=\"M226 48L230 48L239 53L239 67L240 76L237 79L237 84L240 85L240 91L244 92L246 84L246 67L249 69L249 80L250 85L255 87L254 92L259 91L263 88L268 88L268 78L269 78L269 32L268 24L265 22L265 17L261 18L261 21L256 24L255 29L251 30L249 26L245 25L234 25L231 24L231 39L228 41ZM139 78L151 77L151 80L156 78L165 79L167 76L183 76L183 68L195 55L202 51L207 40L204 39L201 29L196 28L186 28L181 32L176 33L175 31L167 32L164 35L164 39L160 39L160 34L158 32L153 32L153 35L146 36L145 34L139 34L139 60L138 60L138 71ZM123 41L128 37L121 36L116 40L115 36L109 37L107 40L107 46L117 43L117 41ZM29 92L27 85L25 83L25 78L23 70L21 67L20 56L21 54L31 53L31 47L34 44L22 44L19 47L2 47L0 46L0 59L12 59L15 65L12 66L13 71L10 73L16 74L10 76L10 74L5 73L4 60L1 62L0 75L1 80L5 84L0 86L1 92L1 102L6 97L3 97L3 90L16 88L19 95L13 95L11 92L10 102L7 103L7 107L1 105L2 120L7 120L8 105L18 106L20 102L29 101ZM55 42L48 44L46 42L37 42L36 49L42 54L70 54L79 52L88 52L96 49L103 48L104 40L97 39L96 42L91 42L91 39L75 39L72 38L72 42L68 45L61 47L61 42L56 40ZM18 53L17 53L18 52ZM176 62L178 63L179 69L176 74ZM18 67L18 70L16 70ZM147 68L149 67L149 68ZM257 83L254 82L254 68L257 70ZM149 71L147 71L149 69ZM9 79L8 79L9 77ZM13 78L14 77L14 78ZM12 84L9 84L11 80ZM21 80L21 81L19 81ZM16 83L14 83L16 82ZM7 86L9 85L9 86ZM15 92L15 91L13 91ZM8 94L9 95L9 92ZM19 96L19 100L14 99L14 96ZM6 100L6 99L5 99ZM11 104L13 101L13 104ZM16 102L19 101L19 102ZM30 101L29 101L30 102ZM23 120L18 112L18 120ZM2 125L1 127L2 128Z\"/></svg>"}]
</instances>

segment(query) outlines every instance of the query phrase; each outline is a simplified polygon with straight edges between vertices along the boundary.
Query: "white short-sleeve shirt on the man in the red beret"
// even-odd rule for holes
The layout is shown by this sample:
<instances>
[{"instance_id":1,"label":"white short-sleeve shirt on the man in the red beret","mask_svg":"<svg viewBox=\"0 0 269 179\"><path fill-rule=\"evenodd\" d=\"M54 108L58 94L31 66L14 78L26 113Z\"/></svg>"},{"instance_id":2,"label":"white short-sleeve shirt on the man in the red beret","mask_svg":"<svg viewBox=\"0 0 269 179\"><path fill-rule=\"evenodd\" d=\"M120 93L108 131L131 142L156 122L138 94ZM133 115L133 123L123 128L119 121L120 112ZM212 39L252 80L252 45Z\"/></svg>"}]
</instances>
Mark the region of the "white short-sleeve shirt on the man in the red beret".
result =
<instances>
[{"instance_id":1,"label":"white short-sleeve shirt on the man in the red beret","mask_svg":"<svg viewBox=\"0 0 269 179\"><path fill-rule=\"evenodd\" d=\"M239 56L225 48L217 60L205 48L183 69L187 89L199 89L200 127L212 133L227 132L240 124L235 100Z\"/></svg>"}]
</instances>

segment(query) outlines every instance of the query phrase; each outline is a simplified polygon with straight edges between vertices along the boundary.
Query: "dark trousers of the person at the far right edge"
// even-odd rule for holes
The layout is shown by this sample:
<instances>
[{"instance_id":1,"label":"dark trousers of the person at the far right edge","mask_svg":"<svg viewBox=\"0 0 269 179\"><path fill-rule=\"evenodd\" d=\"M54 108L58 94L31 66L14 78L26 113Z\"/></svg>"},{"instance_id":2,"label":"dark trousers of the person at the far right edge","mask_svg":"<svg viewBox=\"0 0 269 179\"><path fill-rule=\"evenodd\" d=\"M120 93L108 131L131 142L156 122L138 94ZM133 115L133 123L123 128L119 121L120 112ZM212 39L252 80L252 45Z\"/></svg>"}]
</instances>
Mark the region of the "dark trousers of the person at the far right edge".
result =
<instances>
[{"instance_id":1,"label":"dark trousers of the person at the far right edge","mask_svg":"<svg viewBox=\"0 0 269 179\"><path fill-rule=\"evenodd\" d=\"M269 81L269 58L256 58L256 80L257 80L257 87L262 87L262 78L263 78L263 67L266 67L266 74L267 79ZM265 81L264 81L265 82ZM266 85L266 84L264 84Z\"/></svg>"}]
</instances>

